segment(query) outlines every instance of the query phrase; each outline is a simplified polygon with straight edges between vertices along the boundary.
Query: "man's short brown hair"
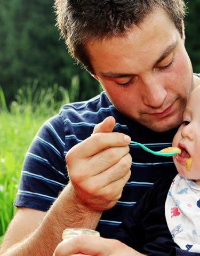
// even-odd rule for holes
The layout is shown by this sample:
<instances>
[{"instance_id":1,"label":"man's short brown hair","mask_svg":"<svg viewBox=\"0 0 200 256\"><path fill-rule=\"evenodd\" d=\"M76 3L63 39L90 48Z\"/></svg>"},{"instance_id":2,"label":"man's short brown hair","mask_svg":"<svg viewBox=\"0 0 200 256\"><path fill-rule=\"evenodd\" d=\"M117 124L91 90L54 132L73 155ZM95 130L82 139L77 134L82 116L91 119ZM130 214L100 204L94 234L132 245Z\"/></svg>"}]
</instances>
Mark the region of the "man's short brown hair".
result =
<instances>
[{"instance_id":1,"label":"man's short brown hair","mask_svg":"<svg viewBox=\"0 0 200 256\"><path fill-rule=\"evenodd\" d=\"M182 36L183 0L55 0L57 26L69 53L94 73L85 44L90 39L123 36L156 8L163 9Z\"/></svg>"}]
</instances>

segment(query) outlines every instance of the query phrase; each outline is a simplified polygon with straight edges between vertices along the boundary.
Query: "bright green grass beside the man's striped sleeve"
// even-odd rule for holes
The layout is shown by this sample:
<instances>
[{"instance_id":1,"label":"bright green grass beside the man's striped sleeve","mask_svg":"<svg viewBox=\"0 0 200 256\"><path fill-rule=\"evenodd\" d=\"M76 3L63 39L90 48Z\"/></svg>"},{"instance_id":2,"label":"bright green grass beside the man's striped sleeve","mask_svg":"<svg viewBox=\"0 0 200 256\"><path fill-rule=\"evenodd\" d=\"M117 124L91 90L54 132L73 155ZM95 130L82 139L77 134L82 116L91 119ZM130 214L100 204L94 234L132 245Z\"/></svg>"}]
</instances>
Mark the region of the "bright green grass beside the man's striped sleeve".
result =
<instances>
[{"instance_id":1,"label":"bright green grass beside the man's striped sleeve","mask_svg":"<svg viewBox=\"0 0 200 256\"><path fill-rule=\"evenodd\" d=\"M58 93L60 102L55 100ZM40 91L28 86L16 99L8 110L0 87L0 243L16 210L13 201L26 151L42 123L69 102L67 91L58 86Z\"/></svg>"}]
</instances>

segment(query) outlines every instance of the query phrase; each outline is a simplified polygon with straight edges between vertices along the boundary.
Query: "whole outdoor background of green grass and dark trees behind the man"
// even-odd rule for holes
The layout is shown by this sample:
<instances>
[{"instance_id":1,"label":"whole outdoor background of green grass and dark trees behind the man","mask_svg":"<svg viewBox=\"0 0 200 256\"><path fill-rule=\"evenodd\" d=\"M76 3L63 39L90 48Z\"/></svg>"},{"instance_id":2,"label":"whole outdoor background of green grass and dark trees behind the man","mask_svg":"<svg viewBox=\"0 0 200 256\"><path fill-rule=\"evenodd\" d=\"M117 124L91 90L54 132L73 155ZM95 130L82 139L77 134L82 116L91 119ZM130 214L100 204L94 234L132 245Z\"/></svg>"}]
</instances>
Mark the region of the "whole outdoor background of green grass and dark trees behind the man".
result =
<instances>
[{"instance_id":1,"label":"whole outdoor background of green grass and dark trees behind the man","mask_svg":"<svg viewBox=\"0 0 200 256\"><path fill-rule=\"evenodd\" d=\"M39 126L99 84L75 65L55 27L53 1L0 0L0 243L13 214L22 161ZM187 2L186 49L200 73L200 0Z\"/></svg>"}]
</instances>

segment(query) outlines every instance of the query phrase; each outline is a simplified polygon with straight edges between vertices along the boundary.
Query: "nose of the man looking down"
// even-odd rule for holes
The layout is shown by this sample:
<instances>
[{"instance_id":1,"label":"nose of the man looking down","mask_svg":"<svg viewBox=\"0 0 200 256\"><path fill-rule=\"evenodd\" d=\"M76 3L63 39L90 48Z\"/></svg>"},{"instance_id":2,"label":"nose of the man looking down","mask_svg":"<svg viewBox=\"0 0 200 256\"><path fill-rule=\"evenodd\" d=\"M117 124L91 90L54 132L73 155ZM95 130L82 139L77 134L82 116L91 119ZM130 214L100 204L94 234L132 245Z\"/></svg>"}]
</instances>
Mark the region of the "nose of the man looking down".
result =
<instances>
[{"instance_id":1,"label":"nose of the man looking down","mask_svg":"<svg viewBox=\"0 0 200 256\"><path fill-rule=\"evenodd\" d=\"M161 81L154 77L147 77L143 79L141 90L142 101L146 106L151 108L162 107L167 96L167 91Z\"/></svg>"}]
</instances>

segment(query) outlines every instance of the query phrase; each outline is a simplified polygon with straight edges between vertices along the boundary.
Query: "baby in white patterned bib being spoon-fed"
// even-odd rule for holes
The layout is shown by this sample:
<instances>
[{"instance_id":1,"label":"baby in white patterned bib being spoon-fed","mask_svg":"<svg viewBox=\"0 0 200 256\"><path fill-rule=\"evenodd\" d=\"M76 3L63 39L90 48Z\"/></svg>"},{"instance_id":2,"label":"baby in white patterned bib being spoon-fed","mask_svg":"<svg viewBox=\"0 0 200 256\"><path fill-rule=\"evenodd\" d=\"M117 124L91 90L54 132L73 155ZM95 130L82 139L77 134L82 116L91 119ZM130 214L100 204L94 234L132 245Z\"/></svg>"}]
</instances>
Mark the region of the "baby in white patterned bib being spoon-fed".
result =
<instances>
[{"instance_id":1,"label":"baby in white patterned bib being spoon-fed","mask_svg":"<svg viewBox=\"0 0 200 256\"><path fill-rule=\"evenodd\" d=\"M165 202L167 226L182 249L200 253L200 86L190 95L183 122L173 139L181 154L173 156L179 174Z\"/></svg>"}]
</instances>

